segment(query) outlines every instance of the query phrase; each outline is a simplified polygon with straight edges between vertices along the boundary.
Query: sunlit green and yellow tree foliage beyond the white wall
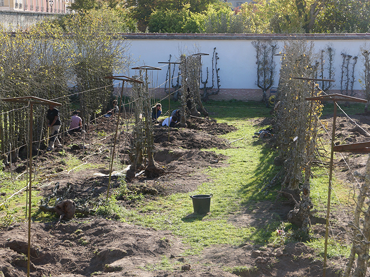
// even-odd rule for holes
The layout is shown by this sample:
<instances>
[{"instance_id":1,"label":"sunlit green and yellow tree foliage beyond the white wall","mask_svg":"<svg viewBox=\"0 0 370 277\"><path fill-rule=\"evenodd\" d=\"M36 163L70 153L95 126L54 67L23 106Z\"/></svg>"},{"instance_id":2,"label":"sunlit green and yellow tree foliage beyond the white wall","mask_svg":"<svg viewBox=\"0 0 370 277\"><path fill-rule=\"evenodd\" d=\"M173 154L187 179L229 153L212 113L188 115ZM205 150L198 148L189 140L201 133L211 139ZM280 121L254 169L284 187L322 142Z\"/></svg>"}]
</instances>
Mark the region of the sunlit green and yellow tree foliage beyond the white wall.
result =
<instances>
[{"instance_id":1,"label":"sunlit green and yellow tree foliage beyond the white wall","mask_svg":"<svg viewBox=\"0 0 370 277\"><path fill-rule=\"evenodd\" d=\"M122 32L342 33L370 31L368 0L75 0L71 9L111 8Z\"/></svg>"}]
</instances>

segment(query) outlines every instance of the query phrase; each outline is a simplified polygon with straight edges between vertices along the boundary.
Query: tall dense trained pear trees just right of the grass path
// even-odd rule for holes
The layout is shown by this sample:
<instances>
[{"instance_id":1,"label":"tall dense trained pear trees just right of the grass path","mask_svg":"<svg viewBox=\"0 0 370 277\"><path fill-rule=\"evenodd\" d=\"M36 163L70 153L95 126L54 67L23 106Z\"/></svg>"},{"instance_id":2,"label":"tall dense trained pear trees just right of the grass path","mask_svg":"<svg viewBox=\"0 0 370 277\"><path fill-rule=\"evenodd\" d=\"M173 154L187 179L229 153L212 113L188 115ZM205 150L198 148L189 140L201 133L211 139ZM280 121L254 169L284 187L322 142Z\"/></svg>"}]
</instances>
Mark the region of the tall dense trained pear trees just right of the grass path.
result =
<instances>
[{"instance_id":1,"label":"tall dense trained pear trees just right of the grass path","mask_svg":"<svg viewBox=\"0 0 370 277\"><path fill-rule=\"evenodd\" d=\"M313 78L313 49L312 43L303 40L285 43L279 84L281 103L276 113L279 156L284 161L280 193L289 195L295 203L288 220L304 231L310 225L310 166L317 129L314 125L321 107L305 100L312 90L308 80L296 78Z\"/></svg>"}]
</instances>

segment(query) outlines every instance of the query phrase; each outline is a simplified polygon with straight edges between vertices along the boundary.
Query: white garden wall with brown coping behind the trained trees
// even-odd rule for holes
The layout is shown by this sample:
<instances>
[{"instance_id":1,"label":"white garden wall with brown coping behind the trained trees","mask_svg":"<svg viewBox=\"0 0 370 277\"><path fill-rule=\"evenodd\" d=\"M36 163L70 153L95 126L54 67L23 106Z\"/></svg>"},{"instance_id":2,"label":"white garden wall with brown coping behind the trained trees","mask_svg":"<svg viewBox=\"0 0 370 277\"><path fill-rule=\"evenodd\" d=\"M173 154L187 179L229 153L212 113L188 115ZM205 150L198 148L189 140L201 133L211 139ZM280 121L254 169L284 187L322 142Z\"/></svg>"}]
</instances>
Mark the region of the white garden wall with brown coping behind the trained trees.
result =
<instances>
[{"instance_id":1,"label":"white garden wall with brown coping behind the trained trees","mask_svg":"<svg viewBox=\"0 0 370 277\"><path fill-rule=\"evenodd\" d=\"M370 34L297 34L297 35L274 35L274 34L124 34L126 41L130 43L129 53L135 60L135 66L154 66L161 67L161 71L153 71L152 87L160 87L163 93L164 83L167 74L167 64L158 62L179 61L181 53L207 53L208 56L202 56L203 63L203 81L206 77L206 67L208 67L208 83L212 84L212 56L214 48L218 53L218 68L220 77L220 92L218 95L210 96L210 99L238 99L238 100L260 100L261 90L256 86L256 57L252 41L256 40L275 40L278 42L279 50L283 51L284 41L305 39L314 43L318 51L324 48L328 43L333 44L335 49L334 67L335 67L335 85L331 93L338 93L341 80L341 64L343 62L341 53L358 56L354 89L356 97L363 97L361 94L361 85L358 82L363 68L360 56L360 46L364 46L370 41ZM278 86L280 57L276 56L276 71L274 87ZM174 65L173 65L174 66ZM172 66L171 72L174 67ZM177 76L178 66L175 68L175 77ZM130 76L135 72L130 71ZM216 79L216 76L215 76ZM168 87L168 85L167 85ZM217 83L215 80L215 87Z\"/></svg>"}]
</instances>

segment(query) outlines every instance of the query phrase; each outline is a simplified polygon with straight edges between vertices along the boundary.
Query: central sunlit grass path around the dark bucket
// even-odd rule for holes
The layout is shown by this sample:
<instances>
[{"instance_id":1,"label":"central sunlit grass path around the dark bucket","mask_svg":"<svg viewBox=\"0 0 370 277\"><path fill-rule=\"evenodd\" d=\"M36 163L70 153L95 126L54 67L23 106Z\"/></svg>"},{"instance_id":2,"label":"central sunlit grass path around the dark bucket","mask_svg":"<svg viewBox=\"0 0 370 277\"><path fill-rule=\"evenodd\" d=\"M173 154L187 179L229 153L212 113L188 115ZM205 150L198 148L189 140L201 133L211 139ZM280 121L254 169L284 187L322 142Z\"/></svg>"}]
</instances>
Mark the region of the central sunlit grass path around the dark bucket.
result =
<instances>
[{"instance_id":1,"label":"central sunlit grass path around the dark bucket","mask_svg":"<svg viewBox=\"0 0 370 277\"><path fill-rule=\"evenodd\" d=\"M260 192L264 179L274 173L274 153L258 139L252 138L254 132L261 128L253 125L255 116L267 116L269 109L255 103L236 103L233 108L230 108L230 103L224 103L224 107L222 103L206 107L218 122L238 128L223 137L229 141L243 137L243 140L232 144L233 148L210 149L230 157L224 161L228 166L206 169L205 173L212 181L203 183L196 191L173 194L146 204L138 213L126 217L128 221L145 227L172 230L192 246L193 254L213 244L238 245L247 241L264 244L269 241L279 222L263 231L253 227L235 227L228 222L229 215L239 213L242 206L274 197ZM210 193L213 193L211 213L204 217L188 218L193 212L189 194Z\"/></svg>"}]
</instances>

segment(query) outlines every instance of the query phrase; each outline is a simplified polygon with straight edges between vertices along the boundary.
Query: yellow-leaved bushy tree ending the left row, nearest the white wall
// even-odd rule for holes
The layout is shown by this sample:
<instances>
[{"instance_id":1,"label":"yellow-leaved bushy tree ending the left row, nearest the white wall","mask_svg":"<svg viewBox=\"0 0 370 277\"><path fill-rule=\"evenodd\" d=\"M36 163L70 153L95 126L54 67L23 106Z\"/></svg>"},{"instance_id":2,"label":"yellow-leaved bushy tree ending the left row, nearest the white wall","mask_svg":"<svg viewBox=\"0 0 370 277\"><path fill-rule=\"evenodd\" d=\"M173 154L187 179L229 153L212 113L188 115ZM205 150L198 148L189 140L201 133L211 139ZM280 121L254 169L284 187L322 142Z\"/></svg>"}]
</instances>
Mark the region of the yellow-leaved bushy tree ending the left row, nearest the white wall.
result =
<instances>
[{"instance_id":1,"label":"yellow-leaved bushy tree ending the left row, nearest the white wall","mask_svg":"<svg viewBox=\"0 0 370 277\"><path fill-rule=\"evenodd\" d=\"M84 15L68 17L65 24L73 38L76 89L78 92L91 90L89 94L80 94L81 114L105 111L110 105L113 86L112 80L104 77L127 70L122 66L129 62L122 40L113 39L119 30L118 18L109 8L90 10Z\"/></svg>"}]
</instances>

